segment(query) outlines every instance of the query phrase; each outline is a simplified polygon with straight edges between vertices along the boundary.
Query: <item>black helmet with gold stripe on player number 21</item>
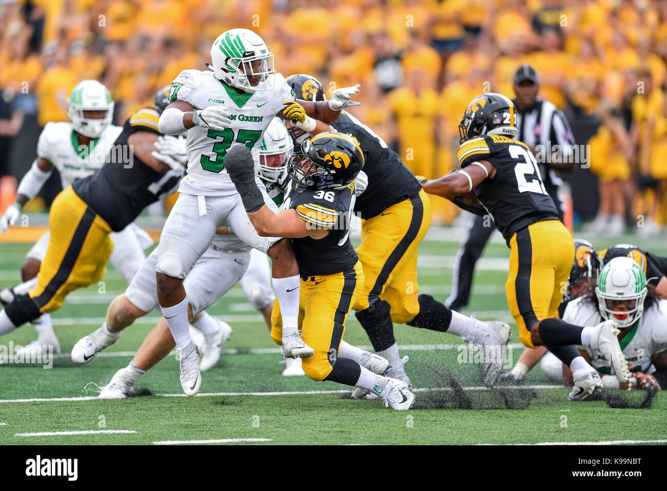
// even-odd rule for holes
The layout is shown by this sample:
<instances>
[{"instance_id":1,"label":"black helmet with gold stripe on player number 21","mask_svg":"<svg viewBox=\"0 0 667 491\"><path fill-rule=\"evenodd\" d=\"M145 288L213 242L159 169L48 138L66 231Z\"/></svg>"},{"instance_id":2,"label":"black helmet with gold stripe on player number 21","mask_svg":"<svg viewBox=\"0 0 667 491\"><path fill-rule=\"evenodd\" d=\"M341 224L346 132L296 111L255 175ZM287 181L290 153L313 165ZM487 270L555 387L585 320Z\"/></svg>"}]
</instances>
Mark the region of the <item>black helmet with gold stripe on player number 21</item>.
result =
<instances>
[{"instance_id":1,"label":"black helmet with gold stripe on player number 21","mask_svg":"<svg viewBox=\"0 0 667 491\"><path fill-rule=\"evenodd\" d=\"M516 138L516 108L502 94L481 94L466 108L459 124L460 143L482 135L504 135Z\"/></svg>"}]
</instances>

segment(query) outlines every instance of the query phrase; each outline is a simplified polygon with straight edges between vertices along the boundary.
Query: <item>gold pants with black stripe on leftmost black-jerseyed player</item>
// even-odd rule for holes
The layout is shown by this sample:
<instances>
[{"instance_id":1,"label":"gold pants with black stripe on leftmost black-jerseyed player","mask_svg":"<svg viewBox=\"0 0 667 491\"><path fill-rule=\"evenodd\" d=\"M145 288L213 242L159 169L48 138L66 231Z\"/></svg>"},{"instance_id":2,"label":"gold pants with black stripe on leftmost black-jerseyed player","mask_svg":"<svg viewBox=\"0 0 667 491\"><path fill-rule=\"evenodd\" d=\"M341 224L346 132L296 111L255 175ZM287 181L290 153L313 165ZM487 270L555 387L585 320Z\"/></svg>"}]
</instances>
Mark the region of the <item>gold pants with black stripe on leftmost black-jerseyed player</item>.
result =
<instances>
[{"instance_id":1,"label":"gold pants with black stripe on leftmost black-jerseyed player","mask_svg":"<svg viewBox=\"0 0 667 491\"><path fill-rule=\"evenodd\" d=\"M111 227L72 190L63 190L49 212L49 247L37 285L28 295L41 313L59 309L67 294L101 280L113 251Z\"/></svg>"}]
</instances>

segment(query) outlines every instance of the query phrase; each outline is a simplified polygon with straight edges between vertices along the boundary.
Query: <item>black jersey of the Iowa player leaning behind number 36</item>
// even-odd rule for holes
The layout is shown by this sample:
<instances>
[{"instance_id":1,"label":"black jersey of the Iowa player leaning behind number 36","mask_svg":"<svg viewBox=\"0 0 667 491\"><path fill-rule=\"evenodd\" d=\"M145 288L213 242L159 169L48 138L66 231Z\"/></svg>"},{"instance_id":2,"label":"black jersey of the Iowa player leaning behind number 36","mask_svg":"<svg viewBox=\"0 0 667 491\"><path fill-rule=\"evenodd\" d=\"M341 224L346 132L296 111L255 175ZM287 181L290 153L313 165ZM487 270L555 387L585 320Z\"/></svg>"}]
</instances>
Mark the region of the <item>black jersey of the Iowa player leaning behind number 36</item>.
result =
<instances>
[{"instance_id":1,"label":"black jersey of the Iowa player leaning behind number 36","mask_svg":"<svg viewBox=\"0 0 667 491\"><path fill-rule=\"evenodd\" d=\"M354 206L354 211L362 218L372 218L392 204L412 198L420 192L422 186L396 152L352 114L342 111L331 127L352 136L364 152L364 172L368 176L368 186L358 196Z\"/></svg>"}]
</instances>

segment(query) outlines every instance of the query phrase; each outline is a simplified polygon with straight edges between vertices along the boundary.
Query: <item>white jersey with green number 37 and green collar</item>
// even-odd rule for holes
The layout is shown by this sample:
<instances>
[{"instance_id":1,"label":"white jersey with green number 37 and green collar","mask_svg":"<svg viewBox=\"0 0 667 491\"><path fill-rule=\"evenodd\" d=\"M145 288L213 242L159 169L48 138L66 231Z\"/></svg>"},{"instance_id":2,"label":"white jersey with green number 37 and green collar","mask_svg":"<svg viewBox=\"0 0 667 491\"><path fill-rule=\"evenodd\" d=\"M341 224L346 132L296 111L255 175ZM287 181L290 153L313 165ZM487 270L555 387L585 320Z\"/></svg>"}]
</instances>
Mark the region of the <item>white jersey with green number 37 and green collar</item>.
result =
<instances>
[{"instance_id":1,"label":"white jersey with green number 37 and green collar","mask_svg":"<svg viewBox=\"0 0 667 491\"><path fill-rule=\"evenodd\" d=\"M264 82L261 82L263 84ZM212 71L183 70L171 84L169 100L182 100L196 110L209 106L226 106L232 124L223 131L195 126L187 130L187 175L180 192L203 196L222 196L236 192L223 160L233 145L245 145L259 171L259 147L264 131L273 116L281 112L283 102L295 100L294 92L283 75L275 75L273 89L238 94L222 84Z\"/></svg>"}]
</instances>

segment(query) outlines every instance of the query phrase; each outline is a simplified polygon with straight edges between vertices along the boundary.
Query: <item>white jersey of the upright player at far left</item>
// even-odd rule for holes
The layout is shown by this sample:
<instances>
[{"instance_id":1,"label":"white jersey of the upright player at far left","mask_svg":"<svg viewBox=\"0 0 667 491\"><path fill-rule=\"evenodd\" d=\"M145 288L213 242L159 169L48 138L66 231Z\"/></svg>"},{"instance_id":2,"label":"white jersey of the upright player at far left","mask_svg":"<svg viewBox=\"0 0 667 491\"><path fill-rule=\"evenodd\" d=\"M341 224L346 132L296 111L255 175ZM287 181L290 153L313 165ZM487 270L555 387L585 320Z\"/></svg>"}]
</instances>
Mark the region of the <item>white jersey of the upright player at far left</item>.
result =
<instances>
[{"instance_id":1,"label":"white jersey of the upright player at far left","mask_svg":"<svg viewBox=\"0 0 667 491\"><path fill-rule=\"evenodd\" d=\"M70 122L47 123L39 135L37 156L57 168L65 189L75 180L102 168L113 142L122 131L121 126L109 125L92 146L79 148L79 140ZM92 148L90 153L89 148Z\"/></svg>"}]
</instances>

